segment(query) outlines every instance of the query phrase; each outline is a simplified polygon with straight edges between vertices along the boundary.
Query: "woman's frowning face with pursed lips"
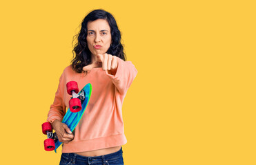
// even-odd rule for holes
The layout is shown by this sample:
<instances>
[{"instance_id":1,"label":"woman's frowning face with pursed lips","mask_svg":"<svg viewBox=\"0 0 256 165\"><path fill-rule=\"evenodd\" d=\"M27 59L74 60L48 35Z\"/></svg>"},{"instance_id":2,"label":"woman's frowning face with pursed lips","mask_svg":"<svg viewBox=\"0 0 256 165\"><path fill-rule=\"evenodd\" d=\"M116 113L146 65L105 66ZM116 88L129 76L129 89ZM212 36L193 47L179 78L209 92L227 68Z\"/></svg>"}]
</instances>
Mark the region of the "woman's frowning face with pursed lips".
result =
<instances>
[{"instance_id":1,"label":"woman's frowning face with pursed lips","mask_svg":"<svg viewBox=\"0 0 256 165\"><path fill-rule=\"evenodd\" d=\"M108 22L105 19L89 21L87 29L86 41L92 56L106 53L112 42Z\"/></svg>"}]
</instances>

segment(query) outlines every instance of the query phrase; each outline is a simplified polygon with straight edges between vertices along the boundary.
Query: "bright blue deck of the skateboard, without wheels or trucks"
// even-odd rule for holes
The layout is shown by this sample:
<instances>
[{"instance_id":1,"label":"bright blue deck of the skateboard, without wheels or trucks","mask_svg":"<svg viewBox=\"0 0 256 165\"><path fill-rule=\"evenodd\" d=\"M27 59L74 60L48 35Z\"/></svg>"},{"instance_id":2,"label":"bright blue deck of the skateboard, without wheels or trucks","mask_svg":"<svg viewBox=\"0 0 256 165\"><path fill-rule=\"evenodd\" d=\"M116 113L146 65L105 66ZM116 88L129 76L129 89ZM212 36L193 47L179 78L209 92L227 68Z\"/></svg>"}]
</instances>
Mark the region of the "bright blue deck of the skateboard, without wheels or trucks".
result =
<instances>
[{"instance_id":1,"label":"bright blue deck of the skateboard, without wheels or trucks","mask_svg":"<svg viewBox=\"0 0 256 165\"><path fill-rule=\"evenodd\" d=\"M92 85L90 83L87 84L86 86L83 87L83 89L81 89L81 91L84 91L84 93L85 93L85 100L83 100L83 102L81 102L81 105L82 105L81 111L73 113L70 111L70 109L68 109L68 111L66 112L66 114L64 115L64 118L62 120L62 122L64 124L68 125L68 128L70 129L71 132L74 131L78 122L81 120L81 117L82 117L84 111L86 110L86 107L90 100L90 95L92 94ZM81 91L79 91L78 94L80 94ZM57 153L56 150L57 150L57 148L59 148L59 146L61 144L62 144L62 142L59 142L59 140L57 140L57 142L55 142L55 153Z\"/></svg>"}]
</instances>

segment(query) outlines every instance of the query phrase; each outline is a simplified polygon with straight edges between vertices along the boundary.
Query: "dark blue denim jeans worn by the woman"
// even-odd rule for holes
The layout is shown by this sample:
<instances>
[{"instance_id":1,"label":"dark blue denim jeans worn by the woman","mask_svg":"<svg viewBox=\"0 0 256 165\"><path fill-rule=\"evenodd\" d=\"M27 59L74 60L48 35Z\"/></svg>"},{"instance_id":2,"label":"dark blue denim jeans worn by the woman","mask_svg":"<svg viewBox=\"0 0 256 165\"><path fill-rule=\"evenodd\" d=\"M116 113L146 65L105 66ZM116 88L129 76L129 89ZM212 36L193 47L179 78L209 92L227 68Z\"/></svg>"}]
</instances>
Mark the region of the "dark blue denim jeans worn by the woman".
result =
<instances>
[{"instance_id":1,"label":"dark blue denim jeans worn by the woman","mask_svg":"<svg viewBox=\"0 0 256 165\"><path fill-rule=\"evenodd\" d=\"M122 147L115 153L107 155L84 157L76 153L62 153L59 164L83 164L83 165L124 165Z\"/></svg>"}]
</instances>

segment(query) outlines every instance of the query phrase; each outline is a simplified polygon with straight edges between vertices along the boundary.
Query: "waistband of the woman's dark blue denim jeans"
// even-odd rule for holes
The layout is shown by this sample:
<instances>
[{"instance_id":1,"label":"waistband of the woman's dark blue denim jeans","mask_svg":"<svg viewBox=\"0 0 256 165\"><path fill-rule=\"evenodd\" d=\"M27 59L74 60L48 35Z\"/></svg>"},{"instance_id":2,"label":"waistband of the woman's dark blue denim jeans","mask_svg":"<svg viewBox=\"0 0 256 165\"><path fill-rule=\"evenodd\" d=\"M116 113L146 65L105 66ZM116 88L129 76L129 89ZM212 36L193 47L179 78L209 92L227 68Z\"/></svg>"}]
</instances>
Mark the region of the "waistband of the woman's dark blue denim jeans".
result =
<instances>
[{"instance_id":1,"label":"waistband of the woman's dark blue denim jeans","mask_svg":"<svg viewBox=\"0 0 256 165\"><path fill-rule=\"evenodd\" d=\"M123 153L123 150L121 147L120 150L115 153L109 153L106 155L100 155L95 157L86 157L86 156L78 155L77 153L62 153L62 155L65 157L69 157L73 161L75 161L75 159L79 159L85 162L99 162L99 161L105 162L105 159L113 159L115 157L119 157L122 155L122 153Z\"/></svg>"}]
</instances>

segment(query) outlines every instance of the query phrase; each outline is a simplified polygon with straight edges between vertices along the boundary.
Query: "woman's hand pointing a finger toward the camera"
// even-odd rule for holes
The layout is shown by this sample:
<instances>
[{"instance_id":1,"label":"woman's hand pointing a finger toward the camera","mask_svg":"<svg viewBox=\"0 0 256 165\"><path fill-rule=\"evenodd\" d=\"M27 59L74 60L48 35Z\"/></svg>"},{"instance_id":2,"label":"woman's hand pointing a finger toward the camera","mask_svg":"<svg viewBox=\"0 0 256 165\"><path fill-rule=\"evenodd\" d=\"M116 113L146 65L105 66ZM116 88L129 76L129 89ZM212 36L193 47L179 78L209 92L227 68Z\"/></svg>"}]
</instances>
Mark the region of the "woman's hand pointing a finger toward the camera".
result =
<instances>
[{"instance_id":1,"label":"woman's hand pointing a finger toward the camera","mask_svg":"<svg viewBox=\"0 0 256 165\"><path fill-rule=\"evenodd\" d=\"M84 71L89 71L95 67L102 67L103 70L108 71L108 74L115 74L117 71L117 56L111 54L97 54L97 61L83 67Z\"/></svg>"}]
</instances>

